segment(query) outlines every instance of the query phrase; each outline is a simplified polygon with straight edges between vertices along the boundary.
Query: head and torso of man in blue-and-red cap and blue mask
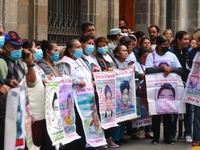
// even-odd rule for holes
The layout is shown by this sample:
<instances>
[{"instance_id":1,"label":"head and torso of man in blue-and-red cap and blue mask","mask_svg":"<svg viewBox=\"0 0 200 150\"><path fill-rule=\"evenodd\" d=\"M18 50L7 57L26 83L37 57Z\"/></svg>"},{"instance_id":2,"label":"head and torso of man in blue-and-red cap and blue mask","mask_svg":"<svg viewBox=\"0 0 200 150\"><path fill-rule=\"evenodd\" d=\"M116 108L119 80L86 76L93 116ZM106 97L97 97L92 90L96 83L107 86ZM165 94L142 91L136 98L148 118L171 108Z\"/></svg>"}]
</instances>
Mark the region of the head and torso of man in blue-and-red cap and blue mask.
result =
<instances>
[{"instance_id":1,"label":"head and torso of man in blue-and-red cap and blue mask","mask_svg":"<svg viewBox=\"0 0 200 150\"><path fill-rule=\"evenodd\" d=\"M15 31L6 32L4 37L5 43L0 55L0 71L3 79L15 79L19 83L25 75L24 64L20 60L23 41Z\"/></svg>"}]
</instances>

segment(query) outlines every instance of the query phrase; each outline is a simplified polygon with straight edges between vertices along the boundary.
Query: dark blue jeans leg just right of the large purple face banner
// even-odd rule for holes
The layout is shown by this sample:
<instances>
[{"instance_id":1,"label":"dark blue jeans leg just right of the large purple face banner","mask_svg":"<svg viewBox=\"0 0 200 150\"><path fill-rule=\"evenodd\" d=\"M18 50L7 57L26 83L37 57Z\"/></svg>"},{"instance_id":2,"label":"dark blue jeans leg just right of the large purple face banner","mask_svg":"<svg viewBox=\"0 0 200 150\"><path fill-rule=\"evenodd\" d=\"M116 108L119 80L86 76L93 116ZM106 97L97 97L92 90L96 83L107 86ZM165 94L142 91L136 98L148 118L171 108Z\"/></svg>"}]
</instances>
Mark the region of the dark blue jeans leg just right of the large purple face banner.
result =
<instances>
[{"instance_id":1,"label":"dark blue jeans leg just right of the large purple face banner","mask_svg":"<svg viewBox=\"0 0 200 150\"><path fill-rule=\"evenodd\" d=\"M186 103L186 114L184 114L184 136L192 136L192 111L193 105Z\"/></svg>"}]
</instances>

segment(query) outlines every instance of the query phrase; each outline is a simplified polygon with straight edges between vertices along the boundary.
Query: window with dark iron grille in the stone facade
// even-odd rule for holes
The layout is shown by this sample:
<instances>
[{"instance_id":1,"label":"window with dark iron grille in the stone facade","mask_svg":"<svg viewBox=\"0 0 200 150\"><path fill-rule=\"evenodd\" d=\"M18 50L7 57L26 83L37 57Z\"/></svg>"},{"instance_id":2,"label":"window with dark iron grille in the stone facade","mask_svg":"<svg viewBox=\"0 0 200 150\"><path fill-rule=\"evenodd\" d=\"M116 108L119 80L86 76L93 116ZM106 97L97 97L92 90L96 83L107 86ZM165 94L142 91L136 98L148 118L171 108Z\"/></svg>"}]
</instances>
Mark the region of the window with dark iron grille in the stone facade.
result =
<instances>
[{"instance_id":1,"label":"window with dark iron grille in the stone facade","mask_svg":"<svg viewBox=\"0 0 200 150\"><path fill-rule=\"evenodd\" d=\"M79 36L80 0L48 0L48 40L66 45Z\"/></svg>"}]
</instances>

